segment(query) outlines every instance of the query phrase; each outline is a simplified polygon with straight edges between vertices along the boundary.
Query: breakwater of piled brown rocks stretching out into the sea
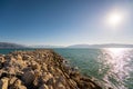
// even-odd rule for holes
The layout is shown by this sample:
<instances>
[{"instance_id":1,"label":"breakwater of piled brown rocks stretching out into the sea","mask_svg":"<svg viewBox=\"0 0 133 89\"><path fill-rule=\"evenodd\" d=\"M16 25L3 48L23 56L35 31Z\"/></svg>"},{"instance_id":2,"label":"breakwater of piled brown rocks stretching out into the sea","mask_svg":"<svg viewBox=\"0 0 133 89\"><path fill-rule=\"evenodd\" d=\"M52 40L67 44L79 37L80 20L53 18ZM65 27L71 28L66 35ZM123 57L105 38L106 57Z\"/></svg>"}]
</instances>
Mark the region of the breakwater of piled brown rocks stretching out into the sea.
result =
<instances>
[{"instance_id":1,"label":"breakwater of piled brown rocks stretching out into the sea","mask_svg":"<svg viewBox=\"0 0 133 89\"><path fill-rule=\"evenodd\" d=\"M0 55L0 89L102 89L52 50Z\"/></svg>"}]
</instances>

